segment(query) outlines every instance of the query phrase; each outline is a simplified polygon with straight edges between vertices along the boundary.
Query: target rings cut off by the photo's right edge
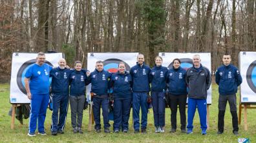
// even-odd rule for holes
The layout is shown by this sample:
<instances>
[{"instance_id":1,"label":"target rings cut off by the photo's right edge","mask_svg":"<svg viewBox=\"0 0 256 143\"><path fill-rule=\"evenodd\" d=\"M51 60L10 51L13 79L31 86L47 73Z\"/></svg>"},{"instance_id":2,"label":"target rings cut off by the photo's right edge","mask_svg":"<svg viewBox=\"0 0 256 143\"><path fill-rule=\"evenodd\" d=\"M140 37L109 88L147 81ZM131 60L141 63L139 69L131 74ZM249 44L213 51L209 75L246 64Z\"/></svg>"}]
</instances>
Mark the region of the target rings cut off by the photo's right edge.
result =
<instances>
[{"instance_id":1,"label":"target rings cut off by the photo's right edge","mask_svg":"<svg viewBox=\"0 0 256 143\"><path fill-rule=\"evenodd\" d=\"M256 61L251 62L246 72L246 81L251 90L256 93Z\"/></svg>"}]
</instances>

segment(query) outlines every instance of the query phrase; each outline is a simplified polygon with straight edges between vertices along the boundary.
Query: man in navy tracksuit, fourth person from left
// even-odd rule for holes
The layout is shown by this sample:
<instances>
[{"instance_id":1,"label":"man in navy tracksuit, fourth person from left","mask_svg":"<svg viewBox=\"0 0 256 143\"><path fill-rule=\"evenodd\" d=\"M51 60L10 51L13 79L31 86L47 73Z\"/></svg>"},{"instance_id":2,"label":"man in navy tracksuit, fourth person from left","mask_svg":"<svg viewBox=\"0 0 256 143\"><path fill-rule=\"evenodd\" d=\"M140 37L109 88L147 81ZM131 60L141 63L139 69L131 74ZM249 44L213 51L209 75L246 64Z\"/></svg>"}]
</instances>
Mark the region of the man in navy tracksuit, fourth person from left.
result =
<instances>
[{"instance_id":1,"label":"man in navy tracksuit, fourth person from left","mask_svg":"<svg viewBox=\"0 0 256 143\"><path fill-rule=\"evenodd\" d=\"M89 76L91 82L91 93L93 94L93 115L96 133L100 133L100 106L102 108L104 132L110 133L109 127L109 86L112 73L103 70L103 62L96 62L96 69Z\"/></svg>"}]
</instances>

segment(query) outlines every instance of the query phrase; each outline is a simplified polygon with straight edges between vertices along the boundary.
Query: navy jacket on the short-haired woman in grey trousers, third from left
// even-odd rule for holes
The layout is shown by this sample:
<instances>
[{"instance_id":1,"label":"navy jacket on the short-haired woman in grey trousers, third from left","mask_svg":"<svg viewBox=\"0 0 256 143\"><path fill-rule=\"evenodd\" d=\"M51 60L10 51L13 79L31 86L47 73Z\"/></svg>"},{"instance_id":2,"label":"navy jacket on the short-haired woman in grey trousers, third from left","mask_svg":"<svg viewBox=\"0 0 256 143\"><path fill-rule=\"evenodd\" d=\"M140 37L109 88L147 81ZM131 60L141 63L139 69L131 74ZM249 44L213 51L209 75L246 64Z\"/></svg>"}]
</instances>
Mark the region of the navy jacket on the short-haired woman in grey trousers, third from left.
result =
<instances>
[{"instance_id":1,"label":"navy jacket on the short-haired woman in grey trousers, third from left","mask_svg":"<svg viewBox=\"0 0 256 143\"><path fill-rule=\"evenodd\" d=\"M85 95L85 85L89 84L86 73L74 71L70 74L70 96Z\"/></svg>"}]
</instances>

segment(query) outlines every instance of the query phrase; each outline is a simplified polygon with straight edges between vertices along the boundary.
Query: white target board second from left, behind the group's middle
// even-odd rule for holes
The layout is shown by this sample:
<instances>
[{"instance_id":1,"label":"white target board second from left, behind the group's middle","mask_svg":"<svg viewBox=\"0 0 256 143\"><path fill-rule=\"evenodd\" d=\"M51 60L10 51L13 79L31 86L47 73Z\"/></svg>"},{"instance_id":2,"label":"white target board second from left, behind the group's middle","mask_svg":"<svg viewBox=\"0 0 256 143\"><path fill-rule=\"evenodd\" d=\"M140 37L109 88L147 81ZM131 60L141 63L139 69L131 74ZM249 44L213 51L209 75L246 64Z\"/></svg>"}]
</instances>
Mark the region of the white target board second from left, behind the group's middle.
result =
<instances>
[{"instance_id":1,"label":"white target board second from left, behind the group's middle","mask_svg":"<svg viewBox=\"0 0 256 143\"><path fill-rule=\"evenodd\" d=\"M103 61L103 69L109 72L118 71L118 63L125 62L127 71L131 69L137 62L138 53L88 53L87 70L93 72L95 70L96 61ZM91 84L86 88L87 95L90 94Z\"/></svg>"}]
</instances>

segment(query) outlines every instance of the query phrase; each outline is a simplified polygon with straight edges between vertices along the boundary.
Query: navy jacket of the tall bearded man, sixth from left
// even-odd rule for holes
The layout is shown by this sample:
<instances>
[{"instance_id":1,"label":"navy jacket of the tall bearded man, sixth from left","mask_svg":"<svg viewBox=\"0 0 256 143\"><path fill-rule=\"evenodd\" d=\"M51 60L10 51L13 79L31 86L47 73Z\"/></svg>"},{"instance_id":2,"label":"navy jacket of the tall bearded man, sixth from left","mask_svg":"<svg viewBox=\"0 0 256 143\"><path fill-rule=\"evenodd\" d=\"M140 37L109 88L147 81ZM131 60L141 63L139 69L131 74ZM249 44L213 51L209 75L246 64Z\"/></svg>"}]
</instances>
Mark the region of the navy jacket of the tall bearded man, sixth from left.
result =
<instances>
[{"instance_id":1,"label":"navy jacket of the tall bearded man, sixth from left","mask_svg":"<svg viewBox=\"0 0 256 143\"><path fill-rule=\"evenodd\" d=\"M131 77L133 79L133 91L135 92L149 92L149 73L150 68L146 64L140 66L137 64L133 66L130 70Z\"/></svg>"}]
</instances>

